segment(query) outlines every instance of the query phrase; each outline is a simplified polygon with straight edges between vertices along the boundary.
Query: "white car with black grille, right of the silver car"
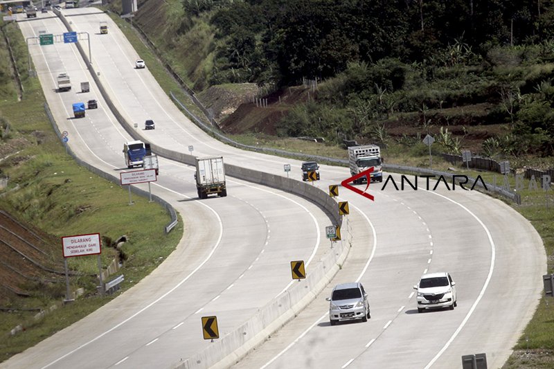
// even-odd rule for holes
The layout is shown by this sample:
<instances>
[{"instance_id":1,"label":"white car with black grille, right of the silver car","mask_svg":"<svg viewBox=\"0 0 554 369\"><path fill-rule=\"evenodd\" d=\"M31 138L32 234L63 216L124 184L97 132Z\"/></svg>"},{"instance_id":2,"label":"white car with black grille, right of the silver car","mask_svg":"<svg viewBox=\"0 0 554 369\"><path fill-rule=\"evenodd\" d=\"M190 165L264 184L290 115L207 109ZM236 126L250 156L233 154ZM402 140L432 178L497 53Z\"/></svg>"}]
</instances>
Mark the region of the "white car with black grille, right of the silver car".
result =
<instances>
[{"instance_id":1,"label":"white car with black grille, right of the silver car","mask_svg":"<svg viewBox=\"0 0 554 369\"><path fill-rule=\"evenodd\" d=\"M454 310L457 304L456 282L449 273L424 274L418 285L413 286L418 290L418 313L424 309L449 307Z\"/></svg>"}]
</instances>

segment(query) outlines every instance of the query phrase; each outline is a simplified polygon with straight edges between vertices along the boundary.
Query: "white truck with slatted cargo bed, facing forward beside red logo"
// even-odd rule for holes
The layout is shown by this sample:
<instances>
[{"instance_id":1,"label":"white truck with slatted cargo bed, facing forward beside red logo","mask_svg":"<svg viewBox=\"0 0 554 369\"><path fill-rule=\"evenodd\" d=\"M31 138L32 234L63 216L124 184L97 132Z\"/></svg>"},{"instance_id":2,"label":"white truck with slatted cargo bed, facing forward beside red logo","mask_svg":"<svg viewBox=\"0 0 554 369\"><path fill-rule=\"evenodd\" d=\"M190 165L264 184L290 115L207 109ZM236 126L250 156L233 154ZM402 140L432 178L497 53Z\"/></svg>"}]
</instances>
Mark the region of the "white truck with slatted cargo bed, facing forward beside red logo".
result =
<instances>
[{"instance_id":1,"label":"white truck with slatted cargo bed, facing forward beside red logo","mask_svg":"<svg viewBox=\"0 0 554 369\"><path fill-rule=\"evenodd\" d=\"M371 181L383 181L383 169L381 149L377 145L361 145L348 147L348 163L350 165L350 174L355 176L364 170L373 167L371 172ZM366 177L356 179L354 183L364 183Z\"/></svg>"}]
</instances>

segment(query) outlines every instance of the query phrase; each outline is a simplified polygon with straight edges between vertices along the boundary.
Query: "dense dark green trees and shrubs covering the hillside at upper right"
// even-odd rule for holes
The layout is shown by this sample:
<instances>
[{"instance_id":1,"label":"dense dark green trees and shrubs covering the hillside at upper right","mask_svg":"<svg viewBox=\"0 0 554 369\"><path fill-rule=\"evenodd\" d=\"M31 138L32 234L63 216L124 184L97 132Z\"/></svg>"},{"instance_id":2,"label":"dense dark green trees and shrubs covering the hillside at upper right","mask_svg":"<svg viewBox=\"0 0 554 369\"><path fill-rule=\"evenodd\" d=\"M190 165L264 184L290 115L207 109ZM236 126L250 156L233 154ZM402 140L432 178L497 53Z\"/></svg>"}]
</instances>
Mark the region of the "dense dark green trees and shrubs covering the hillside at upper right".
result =
<instances>
[{"instance_id":1,"label":"dense dark green trees and shrubs covering the hillside at upper right","mask_svg":"<svg viewBox=\"0 0 554 369\"><path fill-rule=\"evenodd\" d=\"M315 100L291 111L278 125L280 135L386 145L391 127L415 125L438 136L443 151L459 152L468 127L497 125L470 148L487 156L554 154L551 0L182 0L180 6L170 11L169 46L179 48L183 39L190 45L193 34L199 37L192 44L209 45L195 48L202 61L193 64L201 70L188 66L197 89L319 81ZM470 109L460 114L461 107ZM456 125L457 133L448 130ZM420 139L393 136L406 144Z\"/></svg>"}]
</instances>

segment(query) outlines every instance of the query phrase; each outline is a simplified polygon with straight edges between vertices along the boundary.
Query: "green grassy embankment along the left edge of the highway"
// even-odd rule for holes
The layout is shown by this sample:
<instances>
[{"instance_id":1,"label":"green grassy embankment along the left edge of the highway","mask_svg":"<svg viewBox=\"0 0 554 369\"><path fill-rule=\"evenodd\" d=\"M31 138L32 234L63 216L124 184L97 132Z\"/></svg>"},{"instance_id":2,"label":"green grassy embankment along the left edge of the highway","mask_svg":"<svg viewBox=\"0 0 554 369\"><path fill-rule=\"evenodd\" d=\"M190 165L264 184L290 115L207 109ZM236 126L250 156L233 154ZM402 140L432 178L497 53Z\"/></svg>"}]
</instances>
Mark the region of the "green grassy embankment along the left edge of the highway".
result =
<instances>
[{"instance_id":1,"label":"green grassy embankment along the left edge of the highway","mask_svg":"<svg viewBox=\"0 0 554 369\"><path fill-rule=\"evenodd\" d=\"M26 44L19 28L6 26L17 62L27 62ZM0 65L9 65L5 53L0 53ZM55 136L51 123L44 113L44 95L37 78L28 78L26 68L21 69L24 96L17 101L15 93L0 100L0 117L10 123L11 133L0 141L2 150L12 147L13 154L0 162L0 172L10 180L6 190L9 195L0 197L0 208L19 219L33 224L53 235L53 258L62 261L60 237L84 233L100 233L102 237L101 260L104 267L116 257L113 242L121 235L127 236L123 246L126 260L119 273L125 275L120 292L101 297L96 294L98 281L91 274L98 272L96 256L70 258L69 268L84 273L71 277L71 289L84 288L84 295L75 303L62 306L65 286L27 285L33 293L30 298L12 299L8 303L14 312L0 312L0 361L29 348L51 334L62 330L98 307L109 302L154 270L175 249L183 235L179 224L168 235L164 227L170 216L162 206L149 203L148 199L132 195L134 205L129 206L127 188L97 177L78 166L67 155ZM15 91L9 80L0 91ZM10 150L7 150L10 151ZM13 190L19 186L19 189ZM1 193L1 192L0 192ZM34 288L34 289L33 289ZM36 310L59 308L35 321ZM24 332L10 336L17 325Z\"/></svg>"}]
</instances>

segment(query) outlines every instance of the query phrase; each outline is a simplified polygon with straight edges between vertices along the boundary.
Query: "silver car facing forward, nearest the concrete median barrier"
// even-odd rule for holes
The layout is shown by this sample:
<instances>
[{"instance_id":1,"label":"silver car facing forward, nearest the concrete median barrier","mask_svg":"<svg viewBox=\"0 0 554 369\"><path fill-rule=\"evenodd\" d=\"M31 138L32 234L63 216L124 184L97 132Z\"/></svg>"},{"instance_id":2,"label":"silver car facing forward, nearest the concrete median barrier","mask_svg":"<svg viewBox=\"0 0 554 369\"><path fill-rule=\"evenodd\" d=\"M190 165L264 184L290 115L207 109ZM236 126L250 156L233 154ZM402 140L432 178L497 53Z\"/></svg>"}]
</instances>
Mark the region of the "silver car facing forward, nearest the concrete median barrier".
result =
<instances>
[{"instance_id":1,"label":"silver car facing forward, nearest the concrete median barrier","mask_svg":"<svg viewBox=\"0 0 554 369\"><path fill-rule=\"evenodd\" d=\"M329 304L329 321L331 325L339 321L361 319L366 322L371 318L369 313L368 294L360 282L336 285L327 298Z\"/></svg>"}]
</instances>

